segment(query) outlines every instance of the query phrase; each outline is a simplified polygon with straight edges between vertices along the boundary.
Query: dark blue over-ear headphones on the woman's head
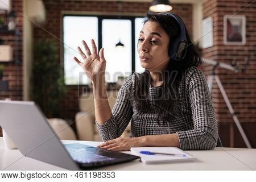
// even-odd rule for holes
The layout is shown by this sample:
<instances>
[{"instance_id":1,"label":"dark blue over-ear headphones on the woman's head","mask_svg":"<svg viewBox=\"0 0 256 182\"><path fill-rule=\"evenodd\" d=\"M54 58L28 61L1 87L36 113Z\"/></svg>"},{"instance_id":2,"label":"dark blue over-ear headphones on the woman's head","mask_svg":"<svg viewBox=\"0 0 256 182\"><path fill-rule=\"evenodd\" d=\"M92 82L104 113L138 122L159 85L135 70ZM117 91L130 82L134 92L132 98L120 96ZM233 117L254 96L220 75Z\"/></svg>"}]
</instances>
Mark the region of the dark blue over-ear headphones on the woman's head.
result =
<instances>
[{"instance_id":1,"label":"dark blue over-ear headphones on the woman's head","mask_svg":"<svg viewBox=\"0 0 256 182\"><path fill-rule=\"evenodd\" d=\"M175 61L183 60L187 54L187 46L188 46L185 25L183 21L180 19L179 16L173 13L158 13L158 14L172 16L176 20L176 22L179 24L180 34L174 40L174 42L170 44L168 53L172 60L175 60Z\"/></svg>"}]
</instances>

